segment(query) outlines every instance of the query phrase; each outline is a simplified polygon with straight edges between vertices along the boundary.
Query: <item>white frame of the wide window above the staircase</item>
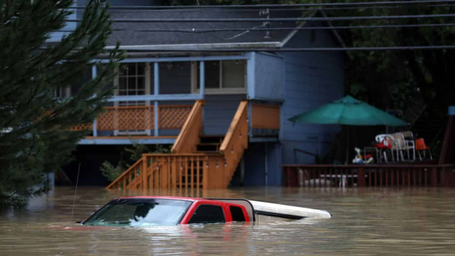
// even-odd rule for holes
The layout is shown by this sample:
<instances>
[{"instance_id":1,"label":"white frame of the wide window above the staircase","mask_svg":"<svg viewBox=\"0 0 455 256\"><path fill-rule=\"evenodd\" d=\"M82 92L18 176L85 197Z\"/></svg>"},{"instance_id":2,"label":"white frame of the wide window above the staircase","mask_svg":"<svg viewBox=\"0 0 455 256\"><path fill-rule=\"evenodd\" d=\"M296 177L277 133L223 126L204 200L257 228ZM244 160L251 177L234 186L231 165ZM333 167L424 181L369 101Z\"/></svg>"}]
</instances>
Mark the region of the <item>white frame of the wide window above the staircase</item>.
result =
<instances>
[{"instance_id":1,"label":"white frame of the wide window above the staircase","mask_svg":"<svg viewBox=\"0 0 455 256\"><path fill-rule=\"evenodd\" d=\"M210 60L213 61L213 60ZM243 75L243 87L238 88L223 88L223 61L225 60L218 60L220 62L220 87L219 88L208 88L205 87L204 91L206 95L229 95L229 94L246 94L247 93L247 62L245 60L245 73ZM191 61L191 93L200 93L198 89L198 65L200 64L199 61Z\"/></svg>"}]
</instances>

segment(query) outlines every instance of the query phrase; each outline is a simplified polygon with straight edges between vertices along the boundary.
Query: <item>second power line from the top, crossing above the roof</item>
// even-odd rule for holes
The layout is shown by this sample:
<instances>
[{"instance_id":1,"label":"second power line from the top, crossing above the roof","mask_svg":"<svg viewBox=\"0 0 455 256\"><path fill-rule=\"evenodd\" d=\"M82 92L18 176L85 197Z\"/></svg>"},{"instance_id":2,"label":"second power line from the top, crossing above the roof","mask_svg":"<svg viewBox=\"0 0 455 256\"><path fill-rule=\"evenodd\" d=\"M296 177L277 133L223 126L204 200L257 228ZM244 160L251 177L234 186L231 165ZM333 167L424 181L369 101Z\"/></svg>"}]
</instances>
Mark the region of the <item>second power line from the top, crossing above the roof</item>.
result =
<instances>
[{"instance_id":1,"label":"second power line from the top, crossing above the roof","mask_svg":"<svg viewBox=\"0 0 455 256\"><path fill-rule=\"evenodd\" d=\"M421 15L391 15L391 16L346 16L346 17L311 17L311 18L111 18L117 23L131 22L280 22L280 21L353 21L402 18L447 18L455 14L421 14ZM69 22L82 21L80 18L68 19Z\"/></svg>"}]
</instances>

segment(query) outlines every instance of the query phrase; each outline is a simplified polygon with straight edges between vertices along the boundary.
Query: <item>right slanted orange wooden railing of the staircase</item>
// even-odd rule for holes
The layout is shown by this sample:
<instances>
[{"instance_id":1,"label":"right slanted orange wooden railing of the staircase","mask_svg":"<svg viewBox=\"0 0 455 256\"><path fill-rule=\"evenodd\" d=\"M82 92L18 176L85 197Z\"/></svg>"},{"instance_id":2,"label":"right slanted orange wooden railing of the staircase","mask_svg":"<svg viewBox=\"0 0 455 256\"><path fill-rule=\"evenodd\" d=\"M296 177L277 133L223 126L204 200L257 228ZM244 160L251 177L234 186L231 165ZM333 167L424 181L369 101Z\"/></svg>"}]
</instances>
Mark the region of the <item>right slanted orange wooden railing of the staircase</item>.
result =
<instances>
[{"instance_id":1,"label":"right slanted orange wooden railing of the staircase","mask_svg":"<svg viewBox=\"0 0 455 256\"><path fill-rule=\"evenodd\" d=\"M240 102L237 112L230 123L228 132L226 133L223 142L221 142L220 153L225 157L225 176L223 177L223 185L220 188L227 188L235 169L242 159L243 152L248 146L248 120L247 113L248 102Z\"/></svg>"}]
</instances>

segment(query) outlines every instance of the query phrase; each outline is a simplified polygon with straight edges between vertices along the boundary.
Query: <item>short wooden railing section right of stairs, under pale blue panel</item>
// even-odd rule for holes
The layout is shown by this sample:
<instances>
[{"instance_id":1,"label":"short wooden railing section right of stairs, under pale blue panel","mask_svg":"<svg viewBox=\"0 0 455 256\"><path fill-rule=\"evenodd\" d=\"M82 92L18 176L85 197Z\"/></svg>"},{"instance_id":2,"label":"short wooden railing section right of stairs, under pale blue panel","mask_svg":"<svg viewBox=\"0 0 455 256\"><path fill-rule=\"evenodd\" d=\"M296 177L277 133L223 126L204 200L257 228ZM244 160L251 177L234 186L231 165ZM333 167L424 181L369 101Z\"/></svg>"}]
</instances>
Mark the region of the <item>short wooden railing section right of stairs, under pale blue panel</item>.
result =
<instances>
[{"instance_id":1,"label":"short wooden railing section right of stairs, under pale blue panel","mask_svg":"<svg viewBox=\"0 0 455 256\"><path fill-rule=\"evenodd\" d=\"M251 105L251 127L257 129L279 129L279 106Z\"/></svg>"}]
</instances>

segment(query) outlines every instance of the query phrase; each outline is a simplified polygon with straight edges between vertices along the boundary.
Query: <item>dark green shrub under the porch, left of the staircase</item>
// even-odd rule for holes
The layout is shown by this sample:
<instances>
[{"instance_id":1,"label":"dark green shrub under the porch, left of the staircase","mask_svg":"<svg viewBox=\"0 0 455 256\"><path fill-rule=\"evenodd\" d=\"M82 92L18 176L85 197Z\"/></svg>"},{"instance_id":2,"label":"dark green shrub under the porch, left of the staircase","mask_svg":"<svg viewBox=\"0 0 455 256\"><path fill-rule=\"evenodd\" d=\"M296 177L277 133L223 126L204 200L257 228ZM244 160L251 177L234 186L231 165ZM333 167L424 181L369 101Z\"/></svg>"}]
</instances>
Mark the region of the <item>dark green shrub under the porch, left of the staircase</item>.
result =
<instances>
[{"instance_id":1,"label":"dark green shrub under the porch, left of the staircase","mask_svg":"<svg viewBox=\"0 0 455 256\"><path fill-rule=\"evenodd\" d=\"M125 147L124 153L127 154L129 159L125 161L123 154L120 156L120 161L117 166L113 166L109 161L102 163L100 171L103 176L109 181L114 181L120 174L127 171L129 166L132 166L137 160L141 159L142 154L145 153L170 153L171 149L169 146L156 144L155 146L149 146L145 144L133 144L132 147ZM123 152L122 152L123 153Z\"/></svg>"}]
</instances>

